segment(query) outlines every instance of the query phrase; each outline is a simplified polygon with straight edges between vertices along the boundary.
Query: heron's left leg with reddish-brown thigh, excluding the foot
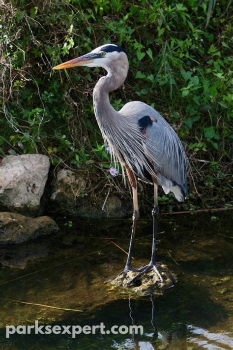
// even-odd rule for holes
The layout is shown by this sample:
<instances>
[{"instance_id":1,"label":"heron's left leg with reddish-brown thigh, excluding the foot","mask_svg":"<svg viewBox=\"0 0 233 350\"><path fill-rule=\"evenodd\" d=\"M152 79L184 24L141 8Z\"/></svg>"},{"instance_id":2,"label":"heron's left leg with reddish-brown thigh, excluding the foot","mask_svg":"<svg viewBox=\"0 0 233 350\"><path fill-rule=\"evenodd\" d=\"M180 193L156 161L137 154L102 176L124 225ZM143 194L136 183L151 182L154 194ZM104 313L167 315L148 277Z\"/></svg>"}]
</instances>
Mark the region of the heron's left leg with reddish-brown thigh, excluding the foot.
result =
<instances>
[{"instance_id":1,"label":"heron's left leg with reddish-brown thigh, excluding the foot","mask_svg":"<svg viewBox=\"0 0 233 350\"><path fill-rule=\"evenodd\" d=\"M139 205L138 205L137 179L127 164L126 164L125 168L126 168L126 172L127 172L128 178L129 178L130 185L132 186L133 204L134 204L133 227L132 227L132 233L131 233L131 238L130 238L128 257L127 257L125 268L124 268L125 271L128 271L128 270L131 270L131 258L132 258L133 244L134 244L134 236L136 233L136 228L137 228L137 225L139 222L140 215L139 215Z\"/></svg>"}]
</instances>

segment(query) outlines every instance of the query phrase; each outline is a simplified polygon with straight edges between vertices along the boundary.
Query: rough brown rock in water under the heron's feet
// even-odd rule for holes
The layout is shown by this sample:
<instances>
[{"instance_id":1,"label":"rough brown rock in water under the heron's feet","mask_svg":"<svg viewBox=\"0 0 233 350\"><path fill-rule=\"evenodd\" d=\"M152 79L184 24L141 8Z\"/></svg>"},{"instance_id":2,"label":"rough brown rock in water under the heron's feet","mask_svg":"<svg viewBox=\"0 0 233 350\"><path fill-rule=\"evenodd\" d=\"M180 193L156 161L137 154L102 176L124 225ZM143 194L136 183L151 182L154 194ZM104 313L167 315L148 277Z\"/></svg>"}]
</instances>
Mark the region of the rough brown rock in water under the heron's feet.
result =
<instances>
[{"instance_id":1,"label":"rough brown rock in water under the heron's feet","mask_svg":"<svg viewBox=\"0 0 233 350\"><path fill-rule=\"evenodd\" d=\"M137 279L132 285L129 286L129 282L139 274L137 271L126 272L125 277L123 275L117 276L115 280L111 282L113 286L128 289L138 294L161 294L165 289L169 289L177 282L175 274L169 270L165 264L156 264L164 282L161 282L159 276L154 270L147 272Z\"/></svg>"}]
</instances>

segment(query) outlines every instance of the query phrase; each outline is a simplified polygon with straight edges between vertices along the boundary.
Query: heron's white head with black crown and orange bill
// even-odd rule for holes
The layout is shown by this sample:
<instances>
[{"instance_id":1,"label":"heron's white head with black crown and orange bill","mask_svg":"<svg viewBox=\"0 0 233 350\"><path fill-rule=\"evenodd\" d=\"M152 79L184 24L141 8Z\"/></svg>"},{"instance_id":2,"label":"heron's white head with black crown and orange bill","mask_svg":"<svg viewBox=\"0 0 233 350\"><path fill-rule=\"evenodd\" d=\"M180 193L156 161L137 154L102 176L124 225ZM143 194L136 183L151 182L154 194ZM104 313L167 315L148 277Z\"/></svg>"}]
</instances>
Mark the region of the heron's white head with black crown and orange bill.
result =
<instances>
[{"instance_id":1,"label":"heron's white head with black crown and orange bill","mask_svg":"<svg viewBox=\"0 0 233 350\"><path fill-rule=\"evenodd\" d=\"M106 44L97 47L84 56L58 64L53 69L64 69L76 67L78 65L85 65L87 67L103 67L108 71L113 64L126 64L128 66L126 52L120 46L115 44Z\"/></svg>"}]
</instances>

